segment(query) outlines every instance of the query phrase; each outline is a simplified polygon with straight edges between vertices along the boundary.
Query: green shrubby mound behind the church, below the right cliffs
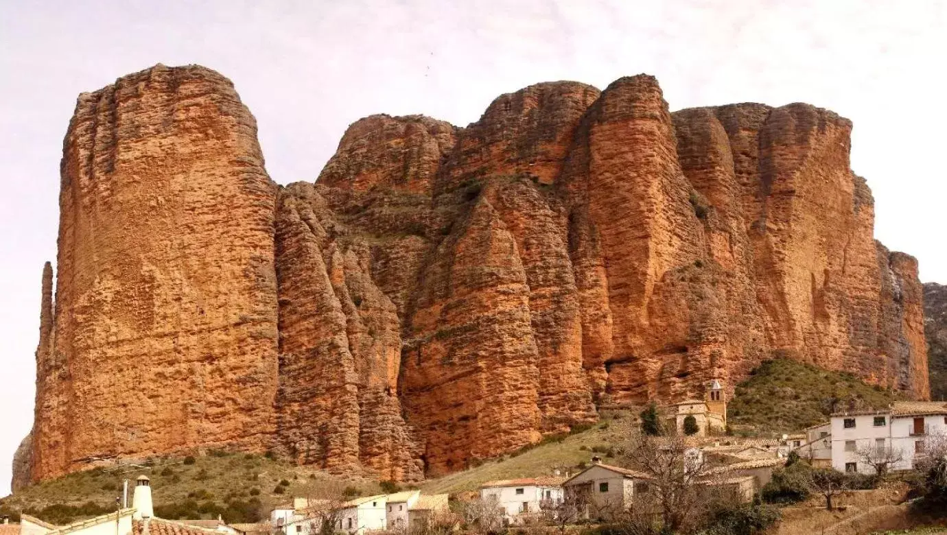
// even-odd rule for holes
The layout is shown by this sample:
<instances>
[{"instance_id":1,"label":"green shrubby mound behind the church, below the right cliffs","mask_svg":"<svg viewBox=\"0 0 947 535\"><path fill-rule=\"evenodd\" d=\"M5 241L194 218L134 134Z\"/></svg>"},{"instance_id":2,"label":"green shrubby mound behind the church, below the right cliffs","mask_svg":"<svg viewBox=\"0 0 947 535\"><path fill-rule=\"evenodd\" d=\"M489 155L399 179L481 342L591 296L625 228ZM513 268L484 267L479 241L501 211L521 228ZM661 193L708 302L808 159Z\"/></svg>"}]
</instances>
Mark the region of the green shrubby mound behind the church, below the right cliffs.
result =
<instances>
[{"instance_id":1,"label":"green shrubby mound behind the church, below the right cliffs","mask_svg":"<svg viewBox=\"0 0 947 535\"><path fill-rule=\"evenodd\" d=\"M793 433L846 406L886 407L902 394L863 383L850 373L787 360L765 361L739 383L727 405L737 434Z\"/></svg>"}]
</instances>

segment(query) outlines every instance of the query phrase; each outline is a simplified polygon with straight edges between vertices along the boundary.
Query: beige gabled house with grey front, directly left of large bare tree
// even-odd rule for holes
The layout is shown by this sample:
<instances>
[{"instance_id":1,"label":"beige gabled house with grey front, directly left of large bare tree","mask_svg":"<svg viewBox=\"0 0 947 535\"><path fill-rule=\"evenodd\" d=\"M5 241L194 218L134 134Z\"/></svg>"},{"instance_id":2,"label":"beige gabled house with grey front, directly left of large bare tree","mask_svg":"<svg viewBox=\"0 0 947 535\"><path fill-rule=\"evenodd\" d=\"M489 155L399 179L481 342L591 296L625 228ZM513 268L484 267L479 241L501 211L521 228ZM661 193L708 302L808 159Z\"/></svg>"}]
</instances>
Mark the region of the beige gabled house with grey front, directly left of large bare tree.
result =
<instances>
[{"instance_id":1,"label":"beige gabled house with grey front, directly left of large bare tree","mask_svg":"<svg viewBox=\"0 0 947 535\"><path fill-rule=\"evenodd\" d=\"M624 509L649 490L651 476L593 461L563 483L563 499L579 500L599 510Z\"/></svg>"}]
</instances>

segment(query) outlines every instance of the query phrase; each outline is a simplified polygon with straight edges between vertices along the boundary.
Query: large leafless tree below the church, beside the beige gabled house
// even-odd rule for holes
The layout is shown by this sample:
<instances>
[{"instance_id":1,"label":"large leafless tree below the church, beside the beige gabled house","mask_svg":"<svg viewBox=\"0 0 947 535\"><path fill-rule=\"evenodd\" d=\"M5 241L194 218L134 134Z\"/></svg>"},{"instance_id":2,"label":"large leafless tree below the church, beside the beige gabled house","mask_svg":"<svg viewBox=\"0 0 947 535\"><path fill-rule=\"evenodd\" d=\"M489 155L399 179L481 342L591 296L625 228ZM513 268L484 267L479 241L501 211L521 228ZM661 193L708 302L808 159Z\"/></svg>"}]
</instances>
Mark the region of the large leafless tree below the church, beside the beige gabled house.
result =
<instances>
[{"instance_id":1,"label":"large leafless tree below the church, beside the beige gabled house","mask_svg":"<svg viewBox=\"0 0 947 535\"><path fill-rule=\"evenodd\" d=\"M638 434L623 448L624 459L647 478L648 491L636 495L626 513L634 522L683 530L697 516L702 503L702 478L707 475L703 455L695 455L680 435L652 437ZM626 519L628 520L628 519Z\"/></svg>"}]
</instances>

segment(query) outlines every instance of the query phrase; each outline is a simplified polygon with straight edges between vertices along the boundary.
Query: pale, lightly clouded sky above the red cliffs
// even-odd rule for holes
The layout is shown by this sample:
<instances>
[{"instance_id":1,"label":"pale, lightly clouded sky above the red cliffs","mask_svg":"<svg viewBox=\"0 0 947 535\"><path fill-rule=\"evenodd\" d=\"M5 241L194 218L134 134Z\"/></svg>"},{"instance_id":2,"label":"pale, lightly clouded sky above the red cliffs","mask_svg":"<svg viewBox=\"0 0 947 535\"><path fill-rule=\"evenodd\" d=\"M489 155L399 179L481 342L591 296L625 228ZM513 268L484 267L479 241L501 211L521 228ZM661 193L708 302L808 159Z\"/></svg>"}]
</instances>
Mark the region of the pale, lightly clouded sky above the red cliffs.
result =
<instances>
[{"instance_id":1,"label":"pale, lightly clouded sky above the red cliffs","mask_svg":"<svg viewBox=\"0 0 947 535\"><path fill-rule=\"evenodd\" d=\"M362 116L466 125L529 84L657 77L671 110L809 102L854 122L876 238L947 283L947 2L0 0L0 496L33 418L43 262L80 92L161 62L234 81L280 184Z\"/></svg>"}]
</instances>

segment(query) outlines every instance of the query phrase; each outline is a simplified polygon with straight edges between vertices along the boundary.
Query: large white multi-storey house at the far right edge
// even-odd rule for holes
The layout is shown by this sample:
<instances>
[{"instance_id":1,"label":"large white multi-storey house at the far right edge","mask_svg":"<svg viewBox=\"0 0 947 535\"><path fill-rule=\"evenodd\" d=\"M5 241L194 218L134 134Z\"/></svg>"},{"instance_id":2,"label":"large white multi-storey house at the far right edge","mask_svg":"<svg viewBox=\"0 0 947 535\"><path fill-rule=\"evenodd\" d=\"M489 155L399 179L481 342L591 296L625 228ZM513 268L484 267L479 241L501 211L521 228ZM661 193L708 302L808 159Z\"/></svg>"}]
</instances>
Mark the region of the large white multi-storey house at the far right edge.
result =
<instances>
[{"instance_id":1,"label":"large white multi-storey house at the far right edge","mask_svg":"<svg viewBox=\"0 0 947 535\"><path fill-rule=\"evenodd\" d=\"M924 441L947 435L947 403L898 401L890 408L835 413L831 416L831 466L844 472L874 473L859 451L895 452L901 460L890 470L910 470ZM900 454L900 455L899 455Z\"/></svg>"}]
</instances>

